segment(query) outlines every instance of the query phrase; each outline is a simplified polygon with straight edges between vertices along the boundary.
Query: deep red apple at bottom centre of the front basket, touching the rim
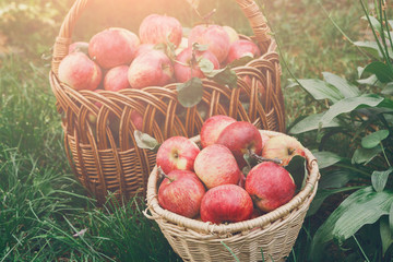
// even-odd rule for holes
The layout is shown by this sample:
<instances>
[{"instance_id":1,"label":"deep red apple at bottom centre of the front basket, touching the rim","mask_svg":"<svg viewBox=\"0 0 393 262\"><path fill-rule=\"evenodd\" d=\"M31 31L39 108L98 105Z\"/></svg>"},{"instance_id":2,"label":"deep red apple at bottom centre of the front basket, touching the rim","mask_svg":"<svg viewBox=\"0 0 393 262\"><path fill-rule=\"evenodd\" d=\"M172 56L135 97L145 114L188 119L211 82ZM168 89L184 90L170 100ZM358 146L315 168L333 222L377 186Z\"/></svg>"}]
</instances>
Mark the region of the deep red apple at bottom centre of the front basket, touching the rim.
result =
<instances>
[{"instance_id":1,"label":"deep red apple at bottom centre of the front basket, touching the rim","mask_svg":"<svg viewBox=\"0 0 393 262\"><path fill-rule=\"evenodd\" d=\"M214 224L247 221L252 212L250 195L236 184L222 184L209 190L201 203L202 221Z\"/></svg>"}]
</instances>

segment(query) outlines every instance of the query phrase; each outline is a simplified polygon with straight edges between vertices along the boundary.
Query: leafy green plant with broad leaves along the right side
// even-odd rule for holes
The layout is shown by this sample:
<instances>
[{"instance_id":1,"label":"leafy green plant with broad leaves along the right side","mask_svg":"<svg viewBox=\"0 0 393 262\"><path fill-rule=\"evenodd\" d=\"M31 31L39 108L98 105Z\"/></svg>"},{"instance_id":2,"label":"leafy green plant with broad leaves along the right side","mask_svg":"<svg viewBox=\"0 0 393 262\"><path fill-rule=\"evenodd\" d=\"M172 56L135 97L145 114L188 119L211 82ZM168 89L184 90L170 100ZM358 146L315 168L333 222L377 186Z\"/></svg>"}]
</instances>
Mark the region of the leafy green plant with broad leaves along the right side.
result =
<instances>
[{"instance_id":1,"label":"leafy green plant with broad leaves along the right side","mask_svg":"<svg viewBox=\"0 0 393 262\"><path fill-rule=\"evenodd\" d=\"M331 240L346 249L347 261L359 255L367 261L393 259L393 24L385 2L376 2L374 10L369 10L360 0L374 40L354 41L372 58L358 68L357 84L324 72L323 81L303 79L291 85L301 86L325 106L323 112L298 119L289 130L318 141L314 155L322 177L308 215L327 196L347 193L317 230L312 261L322 260ZM373 234L367 234L370 228Z\"/></svg>"}]
</instances>

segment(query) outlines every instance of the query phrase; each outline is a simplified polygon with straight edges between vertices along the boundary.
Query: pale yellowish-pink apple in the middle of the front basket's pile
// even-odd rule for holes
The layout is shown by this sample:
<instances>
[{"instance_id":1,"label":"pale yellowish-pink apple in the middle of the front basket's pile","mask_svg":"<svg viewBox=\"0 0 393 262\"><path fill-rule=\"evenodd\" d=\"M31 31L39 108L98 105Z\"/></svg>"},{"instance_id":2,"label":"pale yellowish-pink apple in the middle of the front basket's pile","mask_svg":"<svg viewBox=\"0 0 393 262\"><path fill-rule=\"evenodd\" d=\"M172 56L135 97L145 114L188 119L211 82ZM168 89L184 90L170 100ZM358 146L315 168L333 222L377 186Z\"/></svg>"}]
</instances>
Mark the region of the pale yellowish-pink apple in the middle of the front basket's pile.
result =
<instances>
[{"instance_id":1,"label":"pale yellowish-pink apple in the middle of the front basket's pile","mask_svg":"<svg viewBox=\"0 0 393 262\"><path fill-rule=\"evenodd\" d=\"M209 145L198 154L194 170L207 189L238 183L241 176L234 155L219 144Z\"/></svg>"}]
</instances>

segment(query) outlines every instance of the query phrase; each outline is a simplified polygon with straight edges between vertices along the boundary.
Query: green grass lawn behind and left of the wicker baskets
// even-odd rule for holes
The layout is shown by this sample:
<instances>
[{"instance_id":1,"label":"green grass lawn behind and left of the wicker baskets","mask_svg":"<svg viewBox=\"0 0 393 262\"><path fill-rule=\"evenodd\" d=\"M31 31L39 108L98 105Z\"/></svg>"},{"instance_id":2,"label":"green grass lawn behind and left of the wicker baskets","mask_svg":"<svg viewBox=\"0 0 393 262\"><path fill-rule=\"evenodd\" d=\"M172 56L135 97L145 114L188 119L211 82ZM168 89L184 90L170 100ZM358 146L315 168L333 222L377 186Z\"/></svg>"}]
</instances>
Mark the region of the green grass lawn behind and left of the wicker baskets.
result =
<instances>
[{"instance_id":1,"label":"green grass lawn behind and left of the wicker baskets","mask_svg":"<svg viewBox=\"0 0 393 262\"><path fill-rule=\"evenodd\" d=\"M356 66L362 60L343 39L319 2L263 2L281 46L282 60L294 75L317 78L330 71L355 78ZM191 24L195 15L190 15L189 9L178 9L180 3L183 4L180 0L171 1L148 11L164 9ZM128 8L138 20L138 15L142 17L145 12L143 7L150 4L151 1L144 1L133 11L132 7ZM248 21L235 2L217 0L214 3L201 1L201 4L203 13L213 8L218 10L218 23L231 25L243 34L250 33ZM361 38L358 4L344 0L334 4L325 0L321 4L353 39ZM126 11L110 20L103 19L99 12L104 11L98 8L92 7L92 10L86 10L81 17L74 39L88 39L92 32L108 24L130 23L131 28L135 27ZM64 10L59 12L63 17ZM48 32L51 31L45 34ZM141 201L97 206L75 181L64 154L60 116L48 83L48 61L40 60L43 46L46 46L44 52L49 53L56 33L49 34L49 38L36 37L39 31L35 33L34 40L41 41L11 39L22 48L28 46L27 51L22 56L5 56L0 63L0 262L163 261L163 258L180 261L156 223L143 216L145 206ZM36 49L33 48L35 44ZM283 64L283 87L289 78ZM288 124L301 115L319 110L300 90L284 90L284 95ZM314 223L306 219L288 261L307 261L310 236L315 229Z\"/></svg>"}]
</instances>

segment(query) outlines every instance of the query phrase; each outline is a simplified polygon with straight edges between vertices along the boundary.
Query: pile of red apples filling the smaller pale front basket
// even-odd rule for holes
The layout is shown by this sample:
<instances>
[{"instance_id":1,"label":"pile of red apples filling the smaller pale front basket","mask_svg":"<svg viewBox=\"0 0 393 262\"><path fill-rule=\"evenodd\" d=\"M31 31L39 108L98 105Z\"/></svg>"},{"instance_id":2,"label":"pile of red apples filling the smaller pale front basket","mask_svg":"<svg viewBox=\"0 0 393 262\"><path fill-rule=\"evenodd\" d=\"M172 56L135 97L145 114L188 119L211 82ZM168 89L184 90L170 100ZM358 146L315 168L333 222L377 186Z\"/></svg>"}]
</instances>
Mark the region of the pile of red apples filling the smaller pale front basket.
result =
<instances>
[{"instance_id":1,"label":"pile of red apples filling the smaller pale front basket","mask_svg":"<svg viewBox=\"0 0 393 262\"><path fill-rule=\"evenodd\" d=\"M202 148L184 136L159 146L163 209L221 224L258 217L293 199L296 184L284 166L295 155L305 157L295 138L270 138L252 123L217 115L203 123L200 139ZM245 155L261 162L250 167Z\"/></svg>"}]
</instances>

